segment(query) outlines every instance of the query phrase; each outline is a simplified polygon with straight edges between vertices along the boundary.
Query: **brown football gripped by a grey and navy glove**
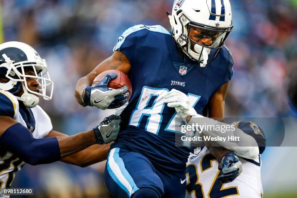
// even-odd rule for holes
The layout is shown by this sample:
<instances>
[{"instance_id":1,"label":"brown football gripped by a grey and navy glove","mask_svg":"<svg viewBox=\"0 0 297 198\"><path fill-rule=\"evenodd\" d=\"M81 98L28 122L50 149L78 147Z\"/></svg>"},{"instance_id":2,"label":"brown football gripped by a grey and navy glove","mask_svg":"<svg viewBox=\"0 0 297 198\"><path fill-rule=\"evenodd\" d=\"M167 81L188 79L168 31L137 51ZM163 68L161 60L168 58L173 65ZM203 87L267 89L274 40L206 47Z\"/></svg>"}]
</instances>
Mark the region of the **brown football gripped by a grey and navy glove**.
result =
<instances>
[{"instance_id":1,"label":"brown football gripped by a grey and navy glove","mask_svg":"<svg viewBox=\"0 0 297 198\"><path fill-rule=\"evenodd\" d=\"M132 84L121 71L107 70L100 73L93 85L86 87L82 94L85 106L99 109L115 109L124 105L131 97Z\"/></svg>"}]
</instances>

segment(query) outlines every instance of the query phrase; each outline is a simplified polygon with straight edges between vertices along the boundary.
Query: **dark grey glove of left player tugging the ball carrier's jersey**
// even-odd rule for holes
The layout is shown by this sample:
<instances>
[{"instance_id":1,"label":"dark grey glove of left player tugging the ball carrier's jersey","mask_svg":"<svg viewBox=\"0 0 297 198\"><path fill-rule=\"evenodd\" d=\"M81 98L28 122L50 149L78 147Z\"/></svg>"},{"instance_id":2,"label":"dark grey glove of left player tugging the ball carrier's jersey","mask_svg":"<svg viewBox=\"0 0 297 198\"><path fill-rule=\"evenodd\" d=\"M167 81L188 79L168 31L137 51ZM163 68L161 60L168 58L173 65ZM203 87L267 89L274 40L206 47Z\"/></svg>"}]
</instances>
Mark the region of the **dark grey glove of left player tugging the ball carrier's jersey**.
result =
<instances>
[{"instance_id":1,"label":"dark grey glove of left player tugging the ball carrier's jersey","mask_svg":"<svg viewBox=\"0 0 297 198\"><path fill-rule=\"evenodd\" d=\"M107 144L115 141L119 132L120 122L120 116L110 115L105 117L102 122L93 129L97 144Z\"/></svg>"}]
</instances>

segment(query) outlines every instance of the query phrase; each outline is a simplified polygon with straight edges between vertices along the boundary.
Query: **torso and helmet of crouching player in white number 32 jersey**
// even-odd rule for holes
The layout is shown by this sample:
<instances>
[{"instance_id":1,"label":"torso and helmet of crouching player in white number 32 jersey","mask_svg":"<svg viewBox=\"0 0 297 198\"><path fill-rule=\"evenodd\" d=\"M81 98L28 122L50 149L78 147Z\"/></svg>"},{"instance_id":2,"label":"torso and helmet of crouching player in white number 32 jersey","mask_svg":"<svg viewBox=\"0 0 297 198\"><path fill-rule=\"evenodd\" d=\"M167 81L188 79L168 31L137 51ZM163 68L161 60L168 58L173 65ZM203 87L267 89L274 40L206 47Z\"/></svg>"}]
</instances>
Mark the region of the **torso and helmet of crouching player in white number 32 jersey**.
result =
<instances>
[{"instance_id":1,"label":"torso and helmet of crouching player in white number 32 jersey","mask_svg":"<svg viewBox=\"0 0 297 198\"><path fill-rule=\"evenodd\" d=\"M225 183L220 181L222 171L226 171L226 164L219 163L216 157L212 155L211 150L207 147L197 148L198 151L191 153L186 168L186 197L187 198L222 198L222 197L240 197L240 198L262 198L263 189L261 182L261 158L260 154L265 149L265 138L261 128L253 122L238 121L234 123L242 132L253 137L258 145L258 155L250 156L237 152L239 162L242 164L242 172L235 177L230 174ZM239 149L241 147L238 147ZM248 147L251 148L251 147ZM199 152L199 150L201 151ZM230 149L230 148L229 148ZM245 148L247 149L247 148ZM230 157L231 153L225 154ZM222 159L226 161L226 159ZM234 162L234 161L233 161ZM234 165L233 167L237 167ZM218 170L219 168L219 170ZM236 178L236 179L235 179Z\"/></svg>"}]
</instances>

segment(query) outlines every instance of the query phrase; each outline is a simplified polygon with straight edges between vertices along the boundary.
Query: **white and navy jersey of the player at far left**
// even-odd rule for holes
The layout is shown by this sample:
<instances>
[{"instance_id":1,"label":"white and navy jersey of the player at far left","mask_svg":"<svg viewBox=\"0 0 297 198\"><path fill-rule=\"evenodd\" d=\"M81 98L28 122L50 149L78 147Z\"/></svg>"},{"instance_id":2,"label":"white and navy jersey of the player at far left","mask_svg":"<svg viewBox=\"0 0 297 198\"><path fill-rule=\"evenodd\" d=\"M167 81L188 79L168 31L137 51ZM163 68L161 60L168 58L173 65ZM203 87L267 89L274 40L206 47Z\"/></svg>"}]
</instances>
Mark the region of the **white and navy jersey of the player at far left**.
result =
<instances>
[{"instance_id":1,"label":"white and navy jersey of the player at far left","mask_svg":"<svg viewBox=\"0 0 297 198\"><path fill-rule=\"evenodd\" d=\"M32 117L35 121L31 123L26 122L26 119L22 117L19 111L19 103L16 97L11 93L0 90L0 105L0 115L13 117L14 120L28 128L36 139L45 137L52 130L49 116L38 105L31 108ZM16 172L19 171L24 164L25 163L13 153L3 148L0 149L0 198L9 197L4 195L4 188L11 186Z\"/></svg>"}]
</instances>

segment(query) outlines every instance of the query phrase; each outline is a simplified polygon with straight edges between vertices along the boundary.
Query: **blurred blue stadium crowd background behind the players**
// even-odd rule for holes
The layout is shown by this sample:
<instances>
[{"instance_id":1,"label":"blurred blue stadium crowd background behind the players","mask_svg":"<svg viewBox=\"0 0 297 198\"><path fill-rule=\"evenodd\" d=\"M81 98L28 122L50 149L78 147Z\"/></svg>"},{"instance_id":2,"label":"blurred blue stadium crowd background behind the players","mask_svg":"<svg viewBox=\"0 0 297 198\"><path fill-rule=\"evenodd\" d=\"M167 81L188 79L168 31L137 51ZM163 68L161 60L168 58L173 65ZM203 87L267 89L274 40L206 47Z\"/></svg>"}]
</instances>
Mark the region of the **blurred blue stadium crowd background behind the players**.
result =
<instances>
[{"instance_id":1,"label":"blurred blue stadium crowd background behind the players","mask_svg":"<svg viewBox=\"0 0 297 198\"><path fill-rule=\"evenodd\" d=\"M70 135L91 129L103 116L75 101L77 80L112 54L125 29L160 24L169 30L165 11L171 12L173 0L1 2L4 41L28 43L46 59L55 87L53 99L41 106L54 129ZM226 45L235 66L226 116L296 116L287 87L297 78L290 75L297 67L297 0L231 0L231 5L234 30ZM294 147L265 150L264 197L297 196L296 153ZM42 198L108 197L103 169L104 163L87 168L25 165L13 186L34 187L35 195Z\"/></svg>"}]
</instances>

